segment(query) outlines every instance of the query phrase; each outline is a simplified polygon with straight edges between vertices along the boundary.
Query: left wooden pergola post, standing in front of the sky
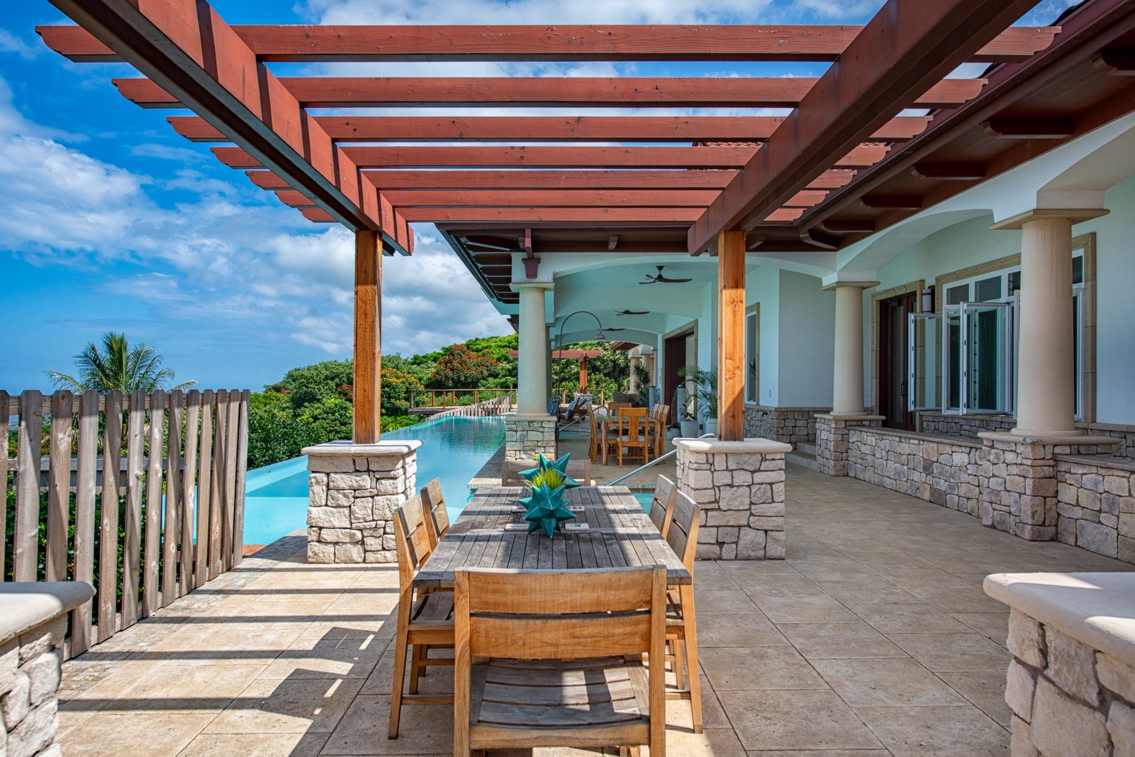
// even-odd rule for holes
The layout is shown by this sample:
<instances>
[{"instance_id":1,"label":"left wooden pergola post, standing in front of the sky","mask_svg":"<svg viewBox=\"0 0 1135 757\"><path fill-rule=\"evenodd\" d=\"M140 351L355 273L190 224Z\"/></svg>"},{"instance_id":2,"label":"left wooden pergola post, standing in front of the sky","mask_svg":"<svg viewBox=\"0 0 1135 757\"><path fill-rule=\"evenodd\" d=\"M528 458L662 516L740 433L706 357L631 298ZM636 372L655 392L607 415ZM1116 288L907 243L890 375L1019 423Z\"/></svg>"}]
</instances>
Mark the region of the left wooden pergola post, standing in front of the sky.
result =
<instances>
[{"instance_id":1,"label":"left wooden pergola post, standing in front of the sky","mask_svg":"<svg viewBox=\"0 0 1135 757\"><path fill-rule=\"evenodd\" d=\"M382 256L379 232L355 232L355 444L378 441L381 398Z\"/></svg>"}]
</instances>

